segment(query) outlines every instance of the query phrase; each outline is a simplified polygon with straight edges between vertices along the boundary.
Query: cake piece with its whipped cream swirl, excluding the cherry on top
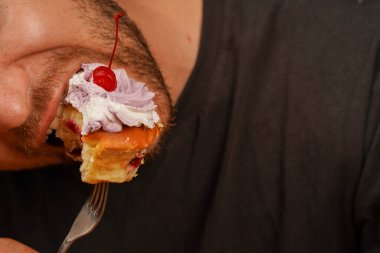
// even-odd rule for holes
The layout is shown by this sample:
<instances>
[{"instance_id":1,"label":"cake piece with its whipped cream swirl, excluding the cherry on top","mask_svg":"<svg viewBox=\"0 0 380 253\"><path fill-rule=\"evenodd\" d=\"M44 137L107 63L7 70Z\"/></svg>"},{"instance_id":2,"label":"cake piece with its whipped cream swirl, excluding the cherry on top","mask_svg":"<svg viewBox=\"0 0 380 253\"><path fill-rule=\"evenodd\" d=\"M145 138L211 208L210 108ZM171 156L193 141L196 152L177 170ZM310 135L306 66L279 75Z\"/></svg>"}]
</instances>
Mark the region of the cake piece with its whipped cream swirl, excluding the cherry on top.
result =
<instances>
[{"instance_id":1,"label":"cake piece with its whipped cream swirl, excluding the cherry on top","mask_svg":"<svg viewBox=\"0 0 380 253\"><path fill-rule=\"evenodd\" d=\"M137 175L163 125L154 93L144 83L129 78L124 69L115 69L111 71L116 87L101 87L94 72L103 67L82 64L70 79L56 135L70 157L83 161L84 182L126 182Z\"/></svg>"}]
</instances>

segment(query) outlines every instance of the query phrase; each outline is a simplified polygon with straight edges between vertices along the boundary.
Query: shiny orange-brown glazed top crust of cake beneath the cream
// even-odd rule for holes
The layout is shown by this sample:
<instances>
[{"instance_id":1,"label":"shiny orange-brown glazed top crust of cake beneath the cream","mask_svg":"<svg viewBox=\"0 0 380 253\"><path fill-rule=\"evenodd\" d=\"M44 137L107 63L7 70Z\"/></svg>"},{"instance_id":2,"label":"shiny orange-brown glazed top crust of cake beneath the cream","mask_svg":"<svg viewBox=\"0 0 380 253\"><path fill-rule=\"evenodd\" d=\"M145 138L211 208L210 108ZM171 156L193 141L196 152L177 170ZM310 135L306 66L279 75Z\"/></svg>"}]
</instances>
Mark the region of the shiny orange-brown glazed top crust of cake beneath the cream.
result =
<instances>
[{"instance_id":1,"label":"shiny orange-brown glazed top crust of cake beneath the cream","mask_svg":"<svg viewBox=\"0 0 380 253\"><path fill-rule=\"evenodd\" d=\"M83 142L96 142L105 149L141 150L152 145L160 134L160 128L123 127L121 132L110 133L103 130L82 136Z\"/></svg>"}]
</instances>

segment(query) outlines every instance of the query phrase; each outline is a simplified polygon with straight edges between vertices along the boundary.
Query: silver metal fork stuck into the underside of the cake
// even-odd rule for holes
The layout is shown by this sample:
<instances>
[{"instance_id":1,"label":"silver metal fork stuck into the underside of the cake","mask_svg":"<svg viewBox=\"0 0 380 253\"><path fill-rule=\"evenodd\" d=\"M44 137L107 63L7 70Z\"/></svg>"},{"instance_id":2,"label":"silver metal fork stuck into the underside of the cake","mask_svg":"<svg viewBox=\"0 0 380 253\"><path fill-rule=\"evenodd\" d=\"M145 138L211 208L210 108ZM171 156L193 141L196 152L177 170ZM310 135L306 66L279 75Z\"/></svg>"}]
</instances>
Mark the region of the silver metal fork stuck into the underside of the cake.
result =
<instances>
[{"instance_id":1,"label":"silver metal fork stuck into the underside of the cake","mask_svg":"<svg viewBox=\"0 0 380 253\"><path fill-rule=\"evenodd\" d=\"M96 227L106 207L108 188L108 183L99 183L94 186L92 193L76 217L58 253L67 252L75 240L89 234Z\"/></svg>"}]
</instances>

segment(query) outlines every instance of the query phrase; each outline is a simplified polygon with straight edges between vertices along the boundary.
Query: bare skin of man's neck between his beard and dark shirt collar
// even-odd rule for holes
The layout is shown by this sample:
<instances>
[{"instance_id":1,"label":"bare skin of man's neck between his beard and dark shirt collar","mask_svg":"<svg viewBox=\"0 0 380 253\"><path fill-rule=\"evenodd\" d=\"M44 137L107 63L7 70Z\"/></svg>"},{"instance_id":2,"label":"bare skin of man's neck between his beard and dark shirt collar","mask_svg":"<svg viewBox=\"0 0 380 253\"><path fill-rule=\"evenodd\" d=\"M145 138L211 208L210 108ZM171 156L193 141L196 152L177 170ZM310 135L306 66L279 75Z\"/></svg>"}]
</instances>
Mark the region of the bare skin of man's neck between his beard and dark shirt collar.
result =
<instances>
[{"instance_id":1,"label":"bare skin of man's neck between his beard and dark shirt collar","mask_svg":"<svg viewBox=\"0 0 380 253\"><path fill-rule=\"evenodd\" d=\"M145 36L174 102L195 65L202 24L202 0L118 0Z\"/></svg>"}]
</instances>

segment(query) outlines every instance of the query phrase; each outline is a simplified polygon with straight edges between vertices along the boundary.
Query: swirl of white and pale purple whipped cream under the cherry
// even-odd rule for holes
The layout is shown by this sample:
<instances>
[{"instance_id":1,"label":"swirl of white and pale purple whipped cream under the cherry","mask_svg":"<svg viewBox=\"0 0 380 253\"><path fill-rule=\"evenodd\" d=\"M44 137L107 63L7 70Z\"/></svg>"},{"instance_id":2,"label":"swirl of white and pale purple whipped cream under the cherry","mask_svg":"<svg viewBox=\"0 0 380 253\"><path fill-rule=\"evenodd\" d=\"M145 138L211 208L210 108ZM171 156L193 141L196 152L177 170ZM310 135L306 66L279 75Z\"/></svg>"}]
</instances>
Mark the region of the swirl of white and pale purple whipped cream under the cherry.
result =
<instances>
[{"instance_id":1,"label":"swirl of white and pale purple whipped cream under the cherry","mask_svg":"<svg viewBox=\"0 0 380 253\"><path fill-rule=\"evenodd\" d=\"M144 83L128 77L124 69L114 69L115 91L108 92L93 83L92 71L103 64L83 64L84 71L69 81L65 99L83 115L82 135L103 129L120 132L123 125L153 128L160 117L153 102L154 93Z\"/></svg>"}]
</instances>

